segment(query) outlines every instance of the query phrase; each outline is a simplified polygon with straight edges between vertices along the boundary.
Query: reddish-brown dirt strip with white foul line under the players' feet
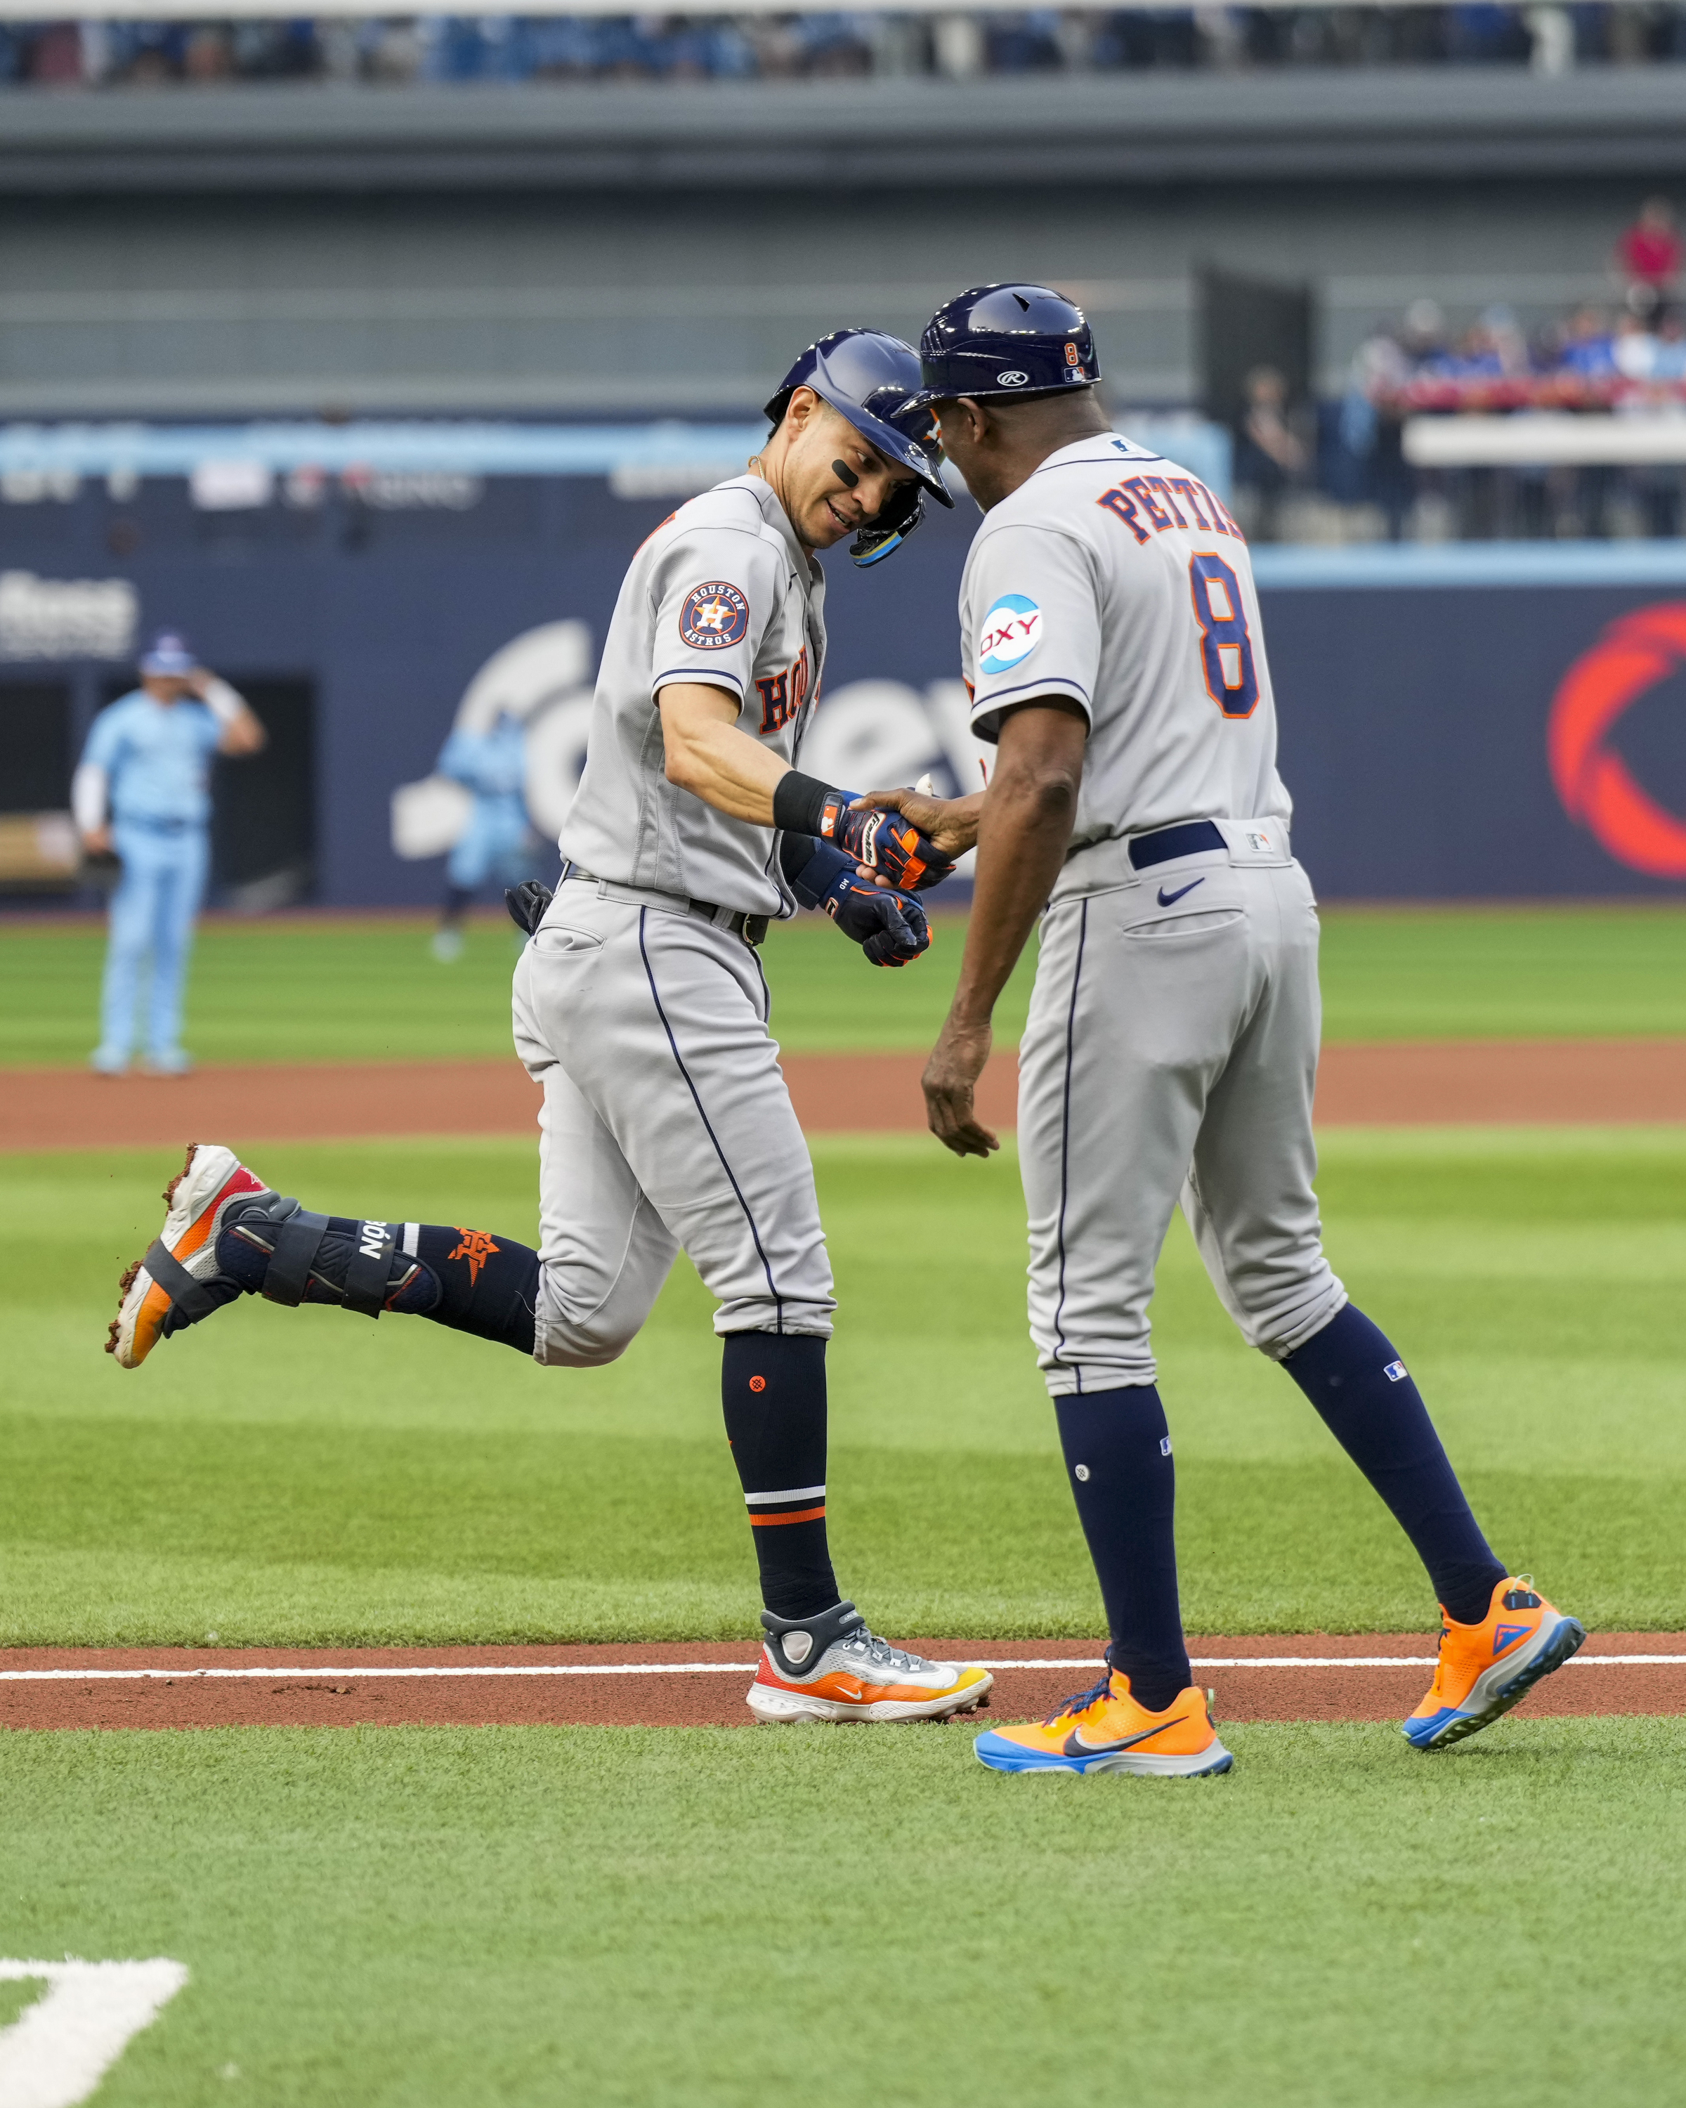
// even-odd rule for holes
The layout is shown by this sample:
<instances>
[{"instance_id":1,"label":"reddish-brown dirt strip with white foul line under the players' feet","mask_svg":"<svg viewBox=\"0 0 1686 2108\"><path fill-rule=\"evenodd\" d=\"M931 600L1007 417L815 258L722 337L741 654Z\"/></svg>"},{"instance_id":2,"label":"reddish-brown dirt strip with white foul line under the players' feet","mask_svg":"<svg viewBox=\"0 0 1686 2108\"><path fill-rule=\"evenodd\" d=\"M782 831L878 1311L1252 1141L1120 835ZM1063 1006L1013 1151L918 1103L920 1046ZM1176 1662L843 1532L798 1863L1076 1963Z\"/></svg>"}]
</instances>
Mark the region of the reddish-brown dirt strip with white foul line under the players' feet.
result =
<instances>
[{"instance_id":1,"label":"reddish-brown dirt strip with white foul line under the players' feet","mask_svg":"<svg viewBox=\"0 0 1686 2108\"><path fill-rule=\"evenodd\" d=\"M1092 1684L1100 1651L1047 1640L913 1640L995 1672L991 1714L1028 1720ZM1395 1634L1195 1638L1222 1720L1401 1720L1433 1640ZM447 1648L78 1648L0 1653L0 1726L744 1726L744 1644ZM1591 1634L1534 1714L1686 1712L1686 1634ZM965 1724L965 1722L961 1722ZM976 1720L972 1722L976 1724Z\"/></svg>"}]
</instances>

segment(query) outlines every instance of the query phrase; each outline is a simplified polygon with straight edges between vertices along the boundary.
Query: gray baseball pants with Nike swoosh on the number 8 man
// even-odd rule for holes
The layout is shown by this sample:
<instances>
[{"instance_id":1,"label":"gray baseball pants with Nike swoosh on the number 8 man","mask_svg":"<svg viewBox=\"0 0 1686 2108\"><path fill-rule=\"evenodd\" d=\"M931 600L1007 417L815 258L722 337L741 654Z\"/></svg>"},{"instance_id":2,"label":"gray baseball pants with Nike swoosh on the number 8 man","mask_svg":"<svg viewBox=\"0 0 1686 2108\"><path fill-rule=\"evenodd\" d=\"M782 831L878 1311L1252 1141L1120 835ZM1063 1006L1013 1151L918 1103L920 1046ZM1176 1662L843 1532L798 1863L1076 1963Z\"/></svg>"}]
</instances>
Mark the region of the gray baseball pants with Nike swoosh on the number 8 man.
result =
<instances>
[{"instance_id":1,"label":"gray baseball pants with Nike swoosh on the number 8 man","mask_svg":"<svg viewBox=\"0 0 1686 2108\"><path fill-rule=\"evenodd\" d=\"M1079 852L1043 917L1018 1147L1056 1398L1153 1383L1178 1199L1248 1345L1281 1360L1347 1301L1313 1191L1317 904L1281 822L1264 852L1220 826L1229 850L1140 873L1121 841Z\"/></svg>"}]
</instances>

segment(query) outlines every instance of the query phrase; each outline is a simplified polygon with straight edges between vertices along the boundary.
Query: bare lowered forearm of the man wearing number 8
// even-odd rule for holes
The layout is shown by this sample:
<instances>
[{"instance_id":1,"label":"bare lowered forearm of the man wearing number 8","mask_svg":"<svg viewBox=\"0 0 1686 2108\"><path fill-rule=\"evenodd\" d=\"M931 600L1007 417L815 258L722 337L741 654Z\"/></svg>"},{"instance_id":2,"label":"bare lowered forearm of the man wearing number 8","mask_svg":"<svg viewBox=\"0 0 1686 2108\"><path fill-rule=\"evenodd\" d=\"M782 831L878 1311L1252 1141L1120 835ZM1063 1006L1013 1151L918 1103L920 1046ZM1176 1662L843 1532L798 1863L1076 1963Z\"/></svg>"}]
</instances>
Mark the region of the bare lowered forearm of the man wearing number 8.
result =
<instances>
[{"instance_id":1,"label":"bare lowered forearm of the man wearing number 8","mask_svg":"<svg viewBox=\"0 0 1686 2108\"><path fill-rule=\"evenodd\" d=\"M1077 818L1077 784L1035 767L997 769L978 822L978 873L948 1022L988 1024L1054 890Z\"/></svg>"}]
</instances>

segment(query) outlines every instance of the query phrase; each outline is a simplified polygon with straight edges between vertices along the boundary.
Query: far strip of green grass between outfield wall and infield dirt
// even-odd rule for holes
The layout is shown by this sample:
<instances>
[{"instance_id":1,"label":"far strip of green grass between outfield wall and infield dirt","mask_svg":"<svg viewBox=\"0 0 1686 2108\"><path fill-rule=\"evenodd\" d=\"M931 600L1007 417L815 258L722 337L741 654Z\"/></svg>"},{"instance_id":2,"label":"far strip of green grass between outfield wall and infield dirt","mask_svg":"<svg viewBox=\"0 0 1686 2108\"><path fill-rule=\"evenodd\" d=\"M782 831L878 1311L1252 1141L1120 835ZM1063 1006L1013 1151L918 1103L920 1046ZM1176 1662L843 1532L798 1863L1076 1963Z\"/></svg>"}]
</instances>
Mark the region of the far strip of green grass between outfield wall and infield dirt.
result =
<instances>
[{"instance_id":1,"label":"far strip of green grass between outfield wall and infield dirt","mask_svg":"<svg viewBox=\"0 0 1686 2108\"><path fill-rule=\"evenodd\" d=\"M959 972L963 921L932 953L875 974L813 917L773 930L773 1029L792 1052L925 1050ZM0 932L0 1065L80 1062L95 1041L103 932ZM419 1060L508 1054L512 932L474 923L436 965L422 921L213 923L200 934L188 1041L200 1060ZM1001 999L1016 1041L1031 957ZM1686 911L1332 909L1324 917L1330 1039L1686 1033Z\"/></svg>"}]
</instances>

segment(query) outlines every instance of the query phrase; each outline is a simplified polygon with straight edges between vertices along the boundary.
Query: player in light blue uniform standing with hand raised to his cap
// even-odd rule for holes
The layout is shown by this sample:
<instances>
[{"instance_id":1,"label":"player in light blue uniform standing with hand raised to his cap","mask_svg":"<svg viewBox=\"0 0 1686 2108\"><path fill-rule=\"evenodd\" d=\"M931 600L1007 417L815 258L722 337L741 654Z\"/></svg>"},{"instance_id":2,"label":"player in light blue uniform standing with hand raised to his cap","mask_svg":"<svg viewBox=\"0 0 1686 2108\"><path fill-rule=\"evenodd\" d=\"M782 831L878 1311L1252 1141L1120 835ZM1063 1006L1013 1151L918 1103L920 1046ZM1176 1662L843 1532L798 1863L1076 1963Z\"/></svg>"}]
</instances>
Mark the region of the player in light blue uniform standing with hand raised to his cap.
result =
<instances>
[{"instance_id":1,"label":"player in light blue uniform standing with hand raised to his cap","mask_svg":"<svg viewBox=\"0 0 1686 2108\"><path fill-rule=\"evenodd\" d=\"M141 660L141 685L107 704L89 729L70 801L84 850L116 850L99 1075L122 1075L135 1046L141 961L152 955L148 1067L183 1075L181 984L211 864L211 757L255 755L263 725L207 672L173 630Z\"/></svg>"}]
</instances>

